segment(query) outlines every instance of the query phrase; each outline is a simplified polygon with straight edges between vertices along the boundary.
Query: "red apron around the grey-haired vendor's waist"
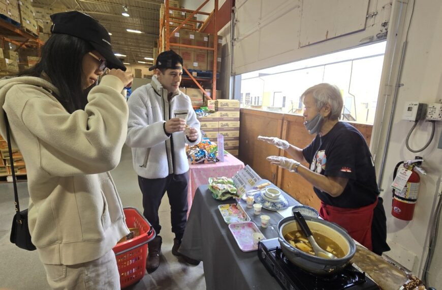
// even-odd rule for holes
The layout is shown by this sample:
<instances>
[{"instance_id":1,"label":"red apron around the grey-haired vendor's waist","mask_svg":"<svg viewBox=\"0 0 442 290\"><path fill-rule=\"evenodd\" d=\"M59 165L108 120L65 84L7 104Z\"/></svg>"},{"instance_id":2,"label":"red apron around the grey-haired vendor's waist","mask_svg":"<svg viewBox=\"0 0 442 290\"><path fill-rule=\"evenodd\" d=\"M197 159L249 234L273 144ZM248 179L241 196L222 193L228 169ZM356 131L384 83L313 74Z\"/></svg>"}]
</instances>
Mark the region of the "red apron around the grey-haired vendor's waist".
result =
<instances>
[{"instance_id":1,"label":"red apron around the grey-haired vendor's waist","mask_svg":"<svg viewBox=\"0 0 442 290\"><path fill-rule=\"evenodd\" d=\"M376 205L377 198L373 204L358 209L337 208L321 202L319 214L323 219L345 228L353 239L371 251L373 249L371 245L371 222Z\"/></svg>"}]
</instances>

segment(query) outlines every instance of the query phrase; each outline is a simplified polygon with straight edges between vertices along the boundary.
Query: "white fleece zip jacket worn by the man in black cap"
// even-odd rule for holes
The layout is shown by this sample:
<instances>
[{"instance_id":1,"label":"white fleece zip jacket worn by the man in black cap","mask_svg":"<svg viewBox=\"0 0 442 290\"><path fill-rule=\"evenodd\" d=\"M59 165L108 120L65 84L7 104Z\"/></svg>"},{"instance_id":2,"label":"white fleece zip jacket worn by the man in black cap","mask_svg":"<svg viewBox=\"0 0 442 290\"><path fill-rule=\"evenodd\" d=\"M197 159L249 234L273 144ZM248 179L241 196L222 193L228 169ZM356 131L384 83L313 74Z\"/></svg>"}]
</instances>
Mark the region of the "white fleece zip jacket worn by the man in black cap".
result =
<instances>
[{"instance_id":1,"label":"white fleece zip jacket worn by the man in black cap","mask_svg":"<svg viewBox=\"0 0 442 290\"><path fill-rule=\"evenodd\" d=\"M165 178L171 173L182 174L189 169L185 143L198 144L201 141L200 122L192 107L191 99L178 91L170 100L156 76L150 84L140 86L129 97L128 137L126 144L132 148L134 169L141 177ZM184 132L170 136L164 131L164 124L175 118L176 112L187 112L186 124L198 130L194 142Z\"/></svg>"}]
</instances>

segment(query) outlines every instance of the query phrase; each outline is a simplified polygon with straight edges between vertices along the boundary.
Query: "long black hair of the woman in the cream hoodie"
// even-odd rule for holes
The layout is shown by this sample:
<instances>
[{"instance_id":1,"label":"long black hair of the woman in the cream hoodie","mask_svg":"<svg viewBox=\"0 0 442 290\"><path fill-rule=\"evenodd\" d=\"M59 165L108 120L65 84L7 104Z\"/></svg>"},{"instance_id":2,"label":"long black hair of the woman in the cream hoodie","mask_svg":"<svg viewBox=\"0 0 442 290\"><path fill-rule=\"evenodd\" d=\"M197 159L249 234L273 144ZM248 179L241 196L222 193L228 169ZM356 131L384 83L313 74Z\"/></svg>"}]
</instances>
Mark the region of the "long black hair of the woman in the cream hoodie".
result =
<instances>
[{"instance_id":1,"label":"long black hair of the woman in the cream hoodie","mask_svg":"<svg viewBox=\"0 0 442 290\"><path fill-rule=\"evenodd\" d=\"M86 41L67 34L53 34L42 48L41 61L17 76L41 77L45 72L59 95L54 97L72 113L84 109L87 93L81 87L83 56L93 47Z\"/></svg>"}]
</instances>

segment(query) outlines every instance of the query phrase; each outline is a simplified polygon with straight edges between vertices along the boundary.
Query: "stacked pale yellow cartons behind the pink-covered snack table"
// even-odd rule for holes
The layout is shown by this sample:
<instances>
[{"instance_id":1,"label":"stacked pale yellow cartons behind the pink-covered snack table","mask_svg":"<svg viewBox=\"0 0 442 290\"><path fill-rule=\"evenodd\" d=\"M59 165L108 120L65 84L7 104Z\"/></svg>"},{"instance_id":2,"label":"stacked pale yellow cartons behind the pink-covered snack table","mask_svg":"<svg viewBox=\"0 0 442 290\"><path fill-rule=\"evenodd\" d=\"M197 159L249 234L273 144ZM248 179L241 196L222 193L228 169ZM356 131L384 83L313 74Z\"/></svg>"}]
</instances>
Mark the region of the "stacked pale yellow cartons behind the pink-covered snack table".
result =
<instances>
[{"instance_id":1,"label":"stacked pale yellow cartons behind the pink-covered snack table","mask_svg":"<svg viewBox=\"0 0 442 290\"><path fill-rule=\"evenodd\" d=\"M218 92L217 92L218 94ZM219 92L219 95L221 93ZM238 156L239 149L239 101L238 100L208 100L209 109L215 113L199 118L201 130L211 140L217 141L217 134L224 136L224 150Z\"/></svg>"}]
</instances>

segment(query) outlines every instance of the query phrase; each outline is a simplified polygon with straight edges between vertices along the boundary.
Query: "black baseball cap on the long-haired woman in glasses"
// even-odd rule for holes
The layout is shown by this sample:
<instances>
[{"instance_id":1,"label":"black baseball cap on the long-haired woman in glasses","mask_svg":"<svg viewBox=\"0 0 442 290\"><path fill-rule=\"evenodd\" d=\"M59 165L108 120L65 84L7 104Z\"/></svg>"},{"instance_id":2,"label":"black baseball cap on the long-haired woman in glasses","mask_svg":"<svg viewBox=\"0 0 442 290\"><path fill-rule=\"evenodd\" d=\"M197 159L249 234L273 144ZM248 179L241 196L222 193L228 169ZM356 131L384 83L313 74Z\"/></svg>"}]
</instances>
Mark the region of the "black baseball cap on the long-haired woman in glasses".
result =
<instances>
[{"instance_id":1,"label":"black baseball cap on the long-haired woman in glasses","mask_svg":"<svg viewBox=\"0 0 442 290\"><path fill-rule=\"evenodd\" d=\"M51 20L51 33L67 34L85 40L103 55L108 68L126 70L112 51L108 31L96 19L82 12L69 11L52 14Z\"/></svg>"}]
</instances>

